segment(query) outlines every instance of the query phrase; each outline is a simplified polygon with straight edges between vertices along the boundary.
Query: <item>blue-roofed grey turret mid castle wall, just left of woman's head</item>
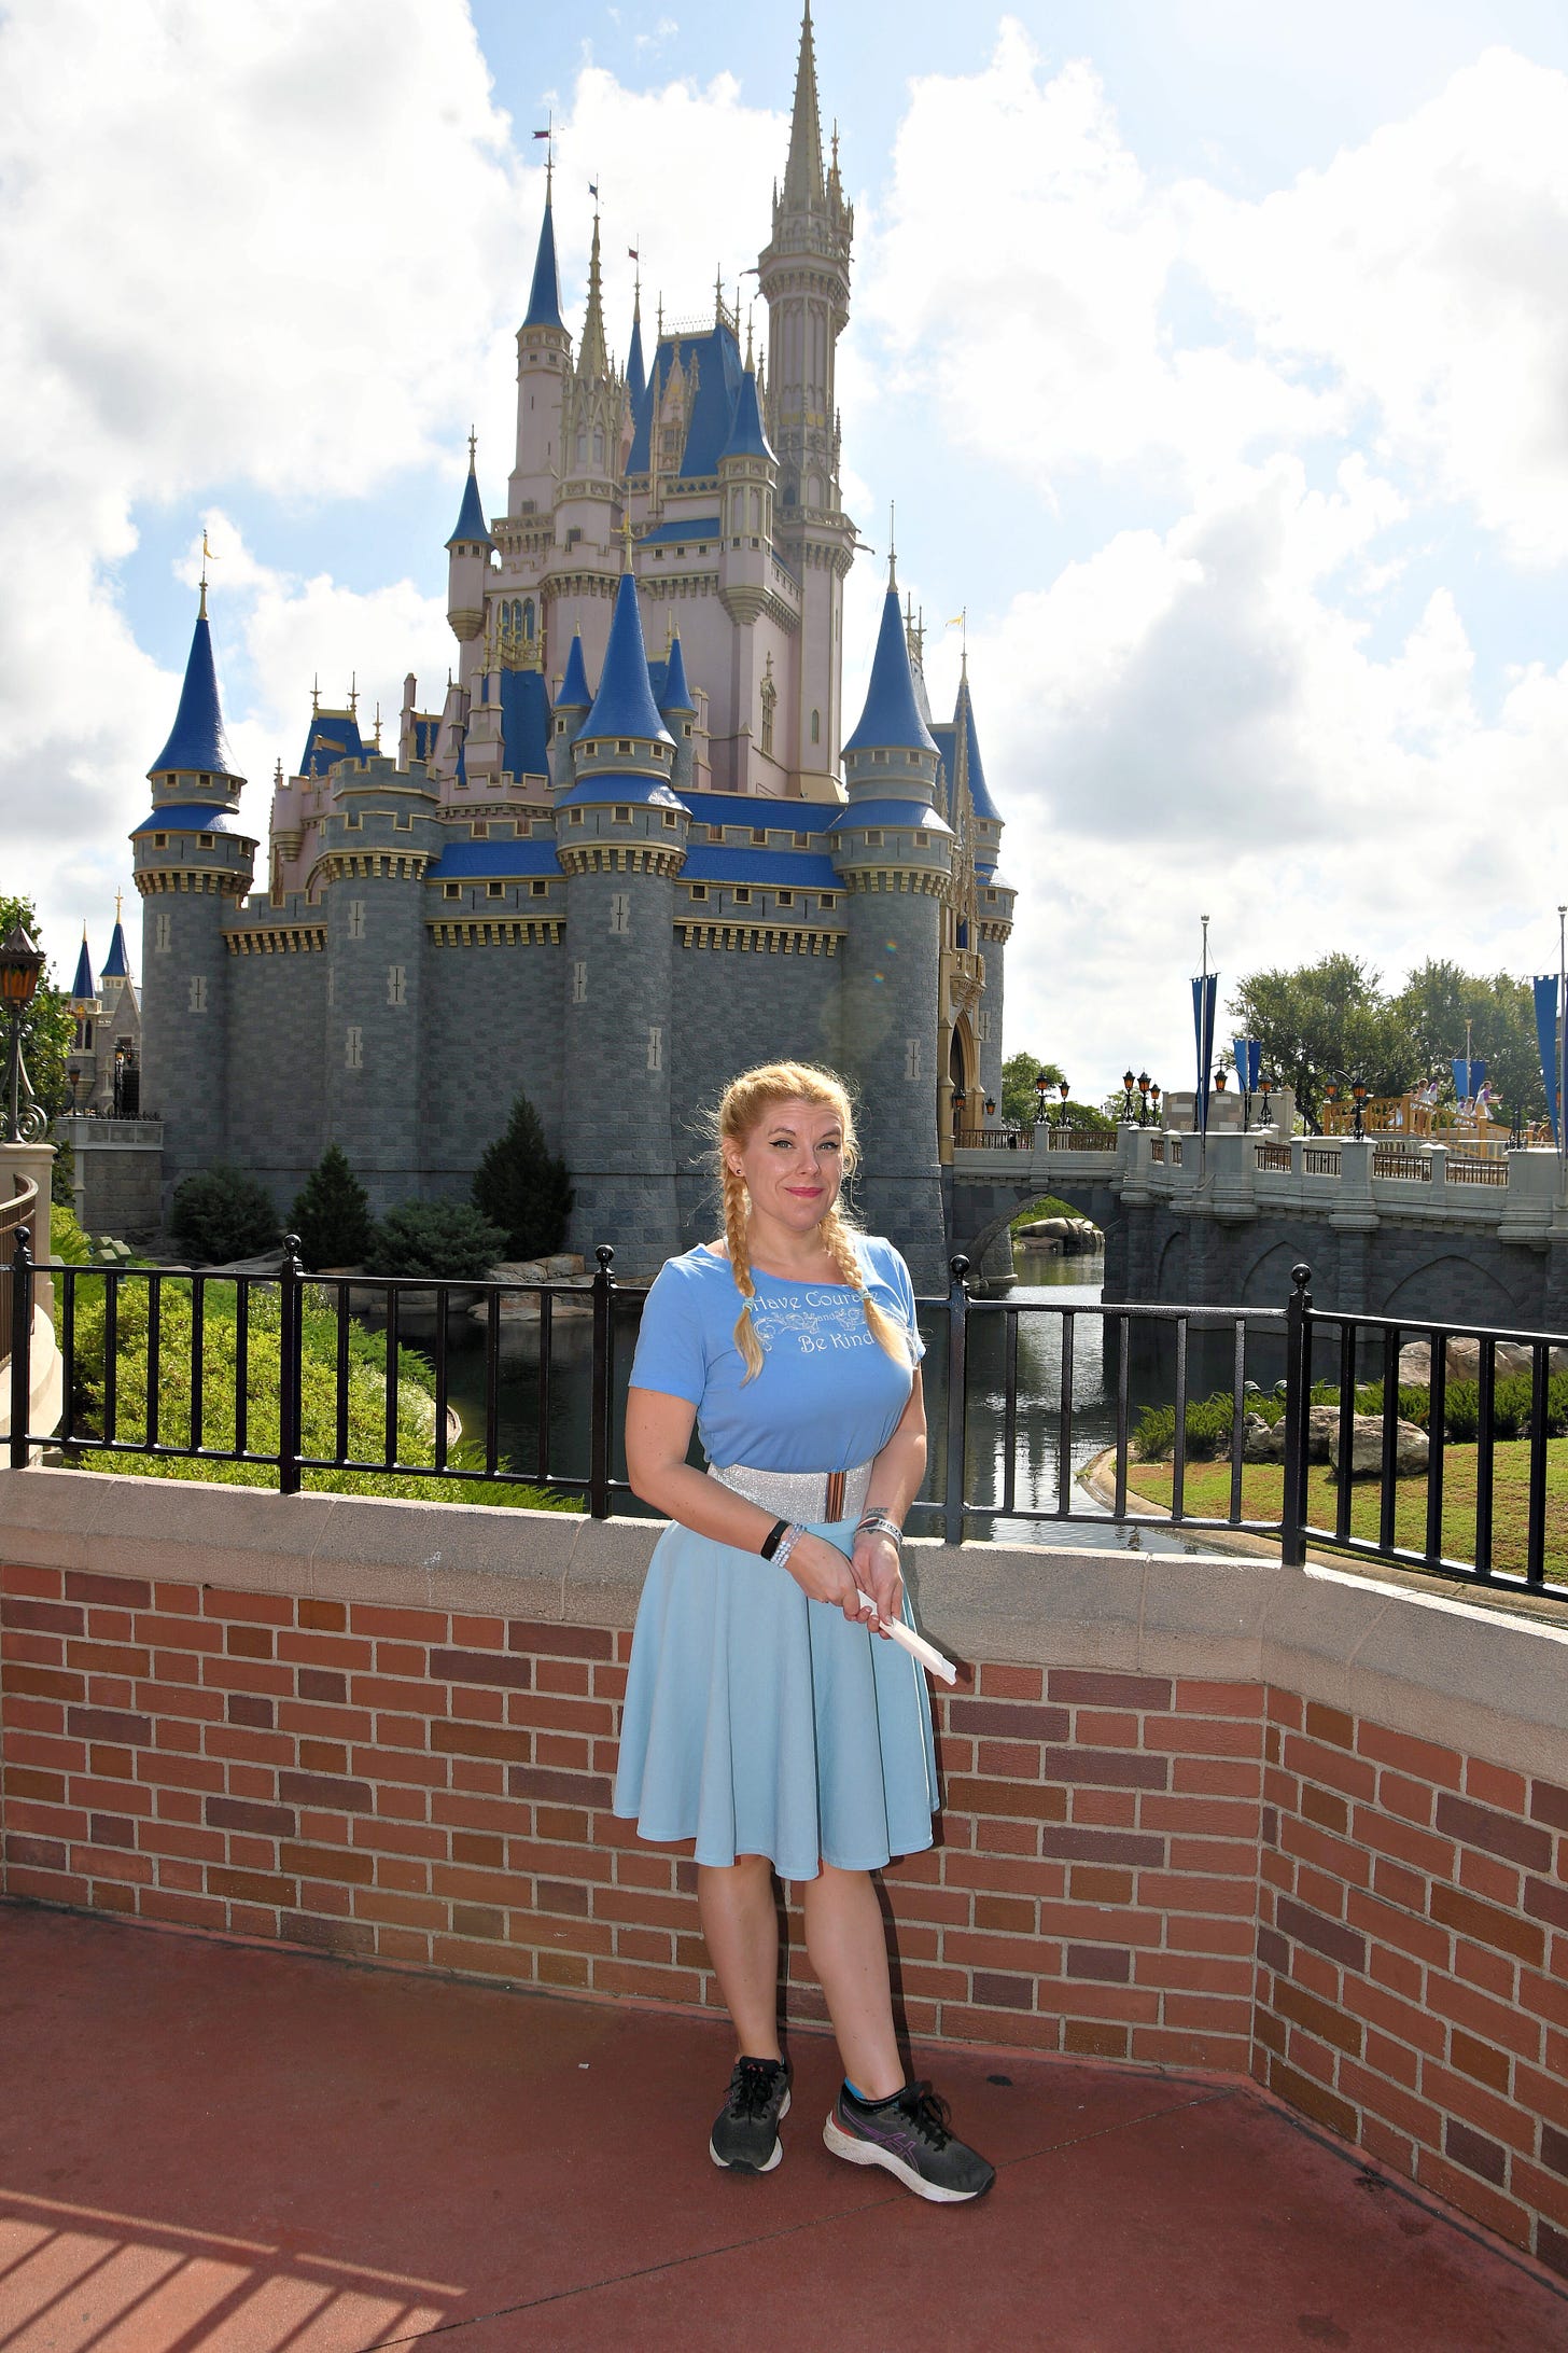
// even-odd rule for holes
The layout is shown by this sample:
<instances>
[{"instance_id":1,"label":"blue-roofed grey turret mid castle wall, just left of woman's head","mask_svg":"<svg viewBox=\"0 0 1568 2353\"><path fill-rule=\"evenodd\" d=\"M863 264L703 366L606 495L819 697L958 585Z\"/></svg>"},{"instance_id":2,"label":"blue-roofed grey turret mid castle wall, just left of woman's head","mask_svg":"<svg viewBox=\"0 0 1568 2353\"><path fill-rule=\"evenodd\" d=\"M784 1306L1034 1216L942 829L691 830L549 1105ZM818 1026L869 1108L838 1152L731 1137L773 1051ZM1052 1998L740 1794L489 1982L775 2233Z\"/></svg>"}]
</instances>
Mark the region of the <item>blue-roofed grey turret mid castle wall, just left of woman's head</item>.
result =
<instances>
[{"instance_id":1,"label":"blue-roofed grey turret mid castle wall, just left of woman's head","mask_svg":"<svg viewBox=\"0 0 1568 2353\"><path fill-rule=\"evenodd\" d=\"M574 784L555 809L567 873L562 1148L576 1184L571 1247L614 1242L618 1271L642 1275L679 1249L670 1005L675 878L689 821L672 791L675 741L654 704L630 567L571 765Z\"/></svg>"}]
</instances>

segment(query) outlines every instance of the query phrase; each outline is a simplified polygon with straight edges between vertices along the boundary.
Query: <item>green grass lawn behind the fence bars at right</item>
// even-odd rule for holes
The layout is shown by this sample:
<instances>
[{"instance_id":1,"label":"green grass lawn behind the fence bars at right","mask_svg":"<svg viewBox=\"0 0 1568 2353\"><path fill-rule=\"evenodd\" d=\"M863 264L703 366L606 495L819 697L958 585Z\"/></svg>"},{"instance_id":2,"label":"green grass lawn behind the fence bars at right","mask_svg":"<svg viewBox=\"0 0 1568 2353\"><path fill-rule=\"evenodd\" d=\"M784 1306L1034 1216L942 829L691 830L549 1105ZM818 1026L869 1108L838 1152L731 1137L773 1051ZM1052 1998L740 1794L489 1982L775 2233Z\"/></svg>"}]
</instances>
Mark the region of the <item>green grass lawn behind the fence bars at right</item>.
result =
<instances>
[{"instance_id":1,"label":"green grass lawn behind the fence bars at right","mask_svg":"<svg viewBox=\"0 0 1568 2353\"><path fill-rule=\"evenodd\" d=\"M1523 1574L1526 1529L1530 1520L1530 1449L1500 1442L1493 1449L1493 1567ZM1171 1464L1131 1464L1128 1487L1150 1504L1171 1508ZM1244 1464L1241 1513L1248 1520L1276 1520L1284 1497L1279 1464ZM1333 1529L1340 1489L1328 1464L1307 1468L1307 1522ZM1229 1511L1229 1461L1187 1464L1185 1511L1199 1518L1225 1518ZM1378 1541L1378 1480L1352 1487L1349 1532ZM1413 1553L1427 1548L1427 1478L1401 1478L1394 1506L1394 1541ZM1443 1553L1448 1560L1476 1558L1476 1447L1443 1447ZM1568 1438L1547 1440L1547 1577L1568 1581Z\"/></svg>"}]
</instances>

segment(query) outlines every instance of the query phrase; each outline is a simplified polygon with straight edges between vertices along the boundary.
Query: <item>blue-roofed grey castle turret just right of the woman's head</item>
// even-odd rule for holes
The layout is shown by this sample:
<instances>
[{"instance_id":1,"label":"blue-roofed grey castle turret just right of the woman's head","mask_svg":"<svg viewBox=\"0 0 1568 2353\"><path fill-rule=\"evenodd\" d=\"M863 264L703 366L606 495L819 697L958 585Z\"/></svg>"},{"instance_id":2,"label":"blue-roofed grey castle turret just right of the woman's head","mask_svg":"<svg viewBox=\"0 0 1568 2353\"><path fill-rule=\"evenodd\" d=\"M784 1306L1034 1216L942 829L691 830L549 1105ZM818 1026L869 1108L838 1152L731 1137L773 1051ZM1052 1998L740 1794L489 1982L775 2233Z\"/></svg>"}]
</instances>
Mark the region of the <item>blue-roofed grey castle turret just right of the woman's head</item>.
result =
<instances>
[{"instance_id":1,"label":"blue-roofed grey castle turret just right of the woman's head","mask_svg":"<svg viewBox=\"0 0 1568 2353\"><path fill-rule=\"evenodd\" d=\"M844 1059L860 1099L860 1214L917 1282L945 1280L938 1087L940 965L952 828L936 812L938 748L919 715L889 562L860 725L844 746L849 807L827 828L846 892Z\"/></svg>"}]
</instances>

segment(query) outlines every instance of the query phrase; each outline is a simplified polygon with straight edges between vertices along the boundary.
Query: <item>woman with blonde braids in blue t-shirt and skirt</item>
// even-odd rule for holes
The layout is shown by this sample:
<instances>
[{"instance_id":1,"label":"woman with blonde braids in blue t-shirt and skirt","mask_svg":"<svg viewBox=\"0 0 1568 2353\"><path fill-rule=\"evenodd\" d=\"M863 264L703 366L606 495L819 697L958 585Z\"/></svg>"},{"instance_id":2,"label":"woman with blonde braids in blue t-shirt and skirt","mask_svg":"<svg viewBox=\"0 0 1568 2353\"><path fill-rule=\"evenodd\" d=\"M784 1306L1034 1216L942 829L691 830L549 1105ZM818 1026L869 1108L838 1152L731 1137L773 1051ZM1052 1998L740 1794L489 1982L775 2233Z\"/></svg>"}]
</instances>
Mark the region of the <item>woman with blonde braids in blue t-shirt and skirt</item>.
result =
<instances>
[{"instance_id":1,"label":"woman with blonde braids in blue t-shirt and skirt","mask_svg":"<svg viewBox=\"0 0 1568 2353\"><path fill-rule=\"evenodd\" d=\"M910 1271L839 1209L856 1139L832 1073L748 1071L717 1129L724 1240L665 1261L632 1362L628 1475L675 1527L637 1609L616 1812L651 1840L696 1838L738 2042L715 2165L783 2155L778 1871L802 1887L844 2061L827 2148L919 2198L978 2198L994 2169L905 2082L872 1885L931 1845L938 1805L924 1673L886 1635L926 1468ZM708 1475L686 1464L693 1421Z\"/></svg>"}]
</instances>

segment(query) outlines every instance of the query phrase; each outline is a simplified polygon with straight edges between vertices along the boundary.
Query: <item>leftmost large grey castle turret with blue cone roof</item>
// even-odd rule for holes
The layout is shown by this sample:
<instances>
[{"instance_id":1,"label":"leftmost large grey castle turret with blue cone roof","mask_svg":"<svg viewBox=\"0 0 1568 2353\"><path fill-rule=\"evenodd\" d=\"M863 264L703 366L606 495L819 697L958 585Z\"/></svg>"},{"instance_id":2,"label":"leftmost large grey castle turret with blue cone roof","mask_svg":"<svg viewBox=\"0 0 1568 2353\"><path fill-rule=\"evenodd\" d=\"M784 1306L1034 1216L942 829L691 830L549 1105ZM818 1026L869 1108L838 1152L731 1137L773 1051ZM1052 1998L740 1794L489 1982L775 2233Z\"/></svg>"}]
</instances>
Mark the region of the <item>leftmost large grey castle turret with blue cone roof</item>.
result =
<instances>
[{"instance_id":1,"label":"leftmost large grey castle turret with blue cone roof","mask_svg":"<svg viewBox=\"0 0 1568 2353\"><path fill-rule=\"evenodd\" d=\"M132 833L141 892L141 1099L165 1122L165 1202L226 1151L228 953L223 918L244 899L256 835L240 819L207 624L207 584L169 741L148 769L153 812Z\"/></svg>"}]
</instances>

